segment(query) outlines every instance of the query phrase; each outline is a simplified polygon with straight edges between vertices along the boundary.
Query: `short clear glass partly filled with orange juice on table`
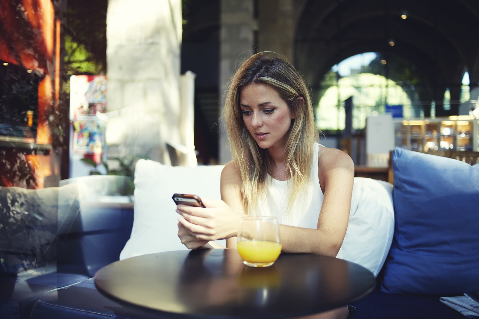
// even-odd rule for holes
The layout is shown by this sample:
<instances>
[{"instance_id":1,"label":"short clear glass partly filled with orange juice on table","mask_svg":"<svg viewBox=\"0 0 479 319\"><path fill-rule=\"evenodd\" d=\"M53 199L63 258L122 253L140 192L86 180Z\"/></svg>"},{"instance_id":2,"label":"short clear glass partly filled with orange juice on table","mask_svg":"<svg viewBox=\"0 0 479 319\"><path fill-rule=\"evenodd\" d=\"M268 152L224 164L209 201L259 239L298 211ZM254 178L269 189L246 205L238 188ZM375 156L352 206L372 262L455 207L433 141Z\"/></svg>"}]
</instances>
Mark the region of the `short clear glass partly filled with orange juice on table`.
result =
<instances>
[{"instance_id":1,"label":"short clear glass partly filled with orange juice on table","mask_svg":"<svg viewBox=\"0 0 479 319\"><path fill-rule=\"evenodd\" d=\"M281 253L278 220L275 217L243 217L238 231L238 253L243 264L268 267Z\"/></svg>"}]
</instances>

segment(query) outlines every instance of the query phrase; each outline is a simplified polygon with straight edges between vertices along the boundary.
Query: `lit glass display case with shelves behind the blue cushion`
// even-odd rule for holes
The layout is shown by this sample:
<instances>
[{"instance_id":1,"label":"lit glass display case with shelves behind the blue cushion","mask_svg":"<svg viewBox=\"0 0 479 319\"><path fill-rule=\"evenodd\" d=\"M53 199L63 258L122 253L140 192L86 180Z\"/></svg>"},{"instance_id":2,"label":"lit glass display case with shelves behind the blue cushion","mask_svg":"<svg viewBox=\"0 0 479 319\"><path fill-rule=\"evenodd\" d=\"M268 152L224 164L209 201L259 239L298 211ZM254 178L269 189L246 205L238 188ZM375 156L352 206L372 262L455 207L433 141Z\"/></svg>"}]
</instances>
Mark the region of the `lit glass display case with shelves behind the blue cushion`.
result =
<instances>
[{"instance_id":1,"label":"lit glass display case with shelves behind the blue cushion","mask_svg":"<svg viewBox=\"0 0 479 319\"><path fill-rule=\"evenodd\" d=\"M394 146L411 151L479 151L479 120L472 116L394 119Z\"/></svg>"}]
</instances>

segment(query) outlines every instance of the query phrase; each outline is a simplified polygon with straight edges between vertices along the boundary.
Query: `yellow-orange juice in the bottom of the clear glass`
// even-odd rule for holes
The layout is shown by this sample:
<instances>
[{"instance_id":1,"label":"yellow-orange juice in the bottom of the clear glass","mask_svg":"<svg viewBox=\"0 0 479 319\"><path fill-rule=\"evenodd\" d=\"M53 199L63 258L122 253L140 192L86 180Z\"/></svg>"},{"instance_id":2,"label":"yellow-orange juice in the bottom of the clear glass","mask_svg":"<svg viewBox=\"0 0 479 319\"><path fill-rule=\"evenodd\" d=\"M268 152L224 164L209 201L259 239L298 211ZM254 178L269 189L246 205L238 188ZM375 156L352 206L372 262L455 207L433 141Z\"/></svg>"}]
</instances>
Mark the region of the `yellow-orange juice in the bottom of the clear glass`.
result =
<instances>
[{"instance_id":1,"label":"yellow-orange juice in the bottom of the clear glass","mask_svg":"<svg viewBox=\"0 0 479 319\"><path fill-rule=\"evenodd\" d=\"M273 264L281 253L281 243L267 241L239 241L238 253L251 264Z\"/></svg>"}]
</instances>

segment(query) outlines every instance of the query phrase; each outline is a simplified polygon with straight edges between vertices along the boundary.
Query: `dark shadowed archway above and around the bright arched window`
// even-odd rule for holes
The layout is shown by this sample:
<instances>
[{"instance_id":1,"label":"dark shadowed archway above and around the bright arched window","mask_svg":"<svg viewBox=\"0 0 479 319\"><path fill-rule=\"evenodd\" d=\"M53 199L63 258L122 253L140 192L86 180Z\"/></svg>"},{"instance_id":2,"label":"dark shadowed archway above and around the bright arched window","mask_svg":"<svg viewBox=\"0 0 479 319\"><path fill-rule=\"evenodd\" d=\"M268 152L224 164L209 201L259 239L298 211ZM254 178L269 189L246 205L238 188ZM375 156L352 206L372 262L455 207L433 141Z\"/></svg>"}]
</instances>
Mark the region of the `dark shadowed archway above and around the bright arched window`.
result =
<instances>
[{"instance_id":1,"label":"dark shadowed archway above and around the bright arched window","mask_svg":"<svg viewBox=\"0 0 479 319\"><path fill-rule=\"evenodd\" d=\"M479 55L475 54L479 42L467 36L479 32L478 1L451 0L447 7L426 2L304 1L297 21L294 62L309 80L313 94L332 65L369 51L399 55L420 69L429 88L421 97L424 100L442 101L445 88L458 100L464 66L473 66L468 67L471 84L479 83ZM403 11L408 12L406 20L400 18ZM396 45L389 46L389 39ZM457 107L450 111L436 108L436 114L457 114Z\"/></svg>"}]
</instances>

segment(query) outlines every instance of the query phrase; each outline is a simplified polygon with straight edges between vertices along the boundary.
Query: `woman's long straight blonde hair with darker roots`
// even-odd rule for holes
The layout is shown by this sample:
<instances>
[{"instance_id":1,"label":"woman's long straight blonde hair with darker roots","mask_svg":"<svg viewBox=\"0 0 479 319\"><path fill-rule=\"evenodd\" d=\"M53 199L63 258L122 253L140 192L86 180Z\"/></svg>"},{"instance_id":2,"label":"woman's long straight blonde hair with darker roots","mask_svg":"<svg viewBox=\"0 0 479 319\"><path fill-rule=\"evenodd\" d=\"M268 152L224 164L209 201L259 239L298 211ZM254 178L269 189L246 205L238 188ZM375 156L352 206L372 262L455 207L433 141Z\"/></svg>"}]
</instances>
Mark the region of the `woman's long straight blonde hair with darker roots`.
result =
<instances>
[{"instance_id":1,"label":"woman's long straight blonde hair with darker roots","mask_svg":"<svg viewBox=\"0 0 479 319\"><path fill-rule=\"evenodd\" d=\"M239 106L241 89L255 83L273 87L295 114L285 147L286 173L291 176L292 182L288 199L288 211L291 211L290 206L308 185L313 145L319 138L309 91L291 63L266 52L248 58L230 80L223 111L231 153L241 176L241 201L248 215L255 214L258 198L267 190L267 174L272 174L271 158L248 132Z\"/></svg>"}]
</instances>

